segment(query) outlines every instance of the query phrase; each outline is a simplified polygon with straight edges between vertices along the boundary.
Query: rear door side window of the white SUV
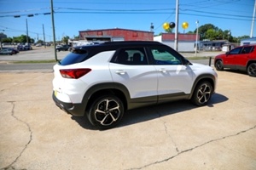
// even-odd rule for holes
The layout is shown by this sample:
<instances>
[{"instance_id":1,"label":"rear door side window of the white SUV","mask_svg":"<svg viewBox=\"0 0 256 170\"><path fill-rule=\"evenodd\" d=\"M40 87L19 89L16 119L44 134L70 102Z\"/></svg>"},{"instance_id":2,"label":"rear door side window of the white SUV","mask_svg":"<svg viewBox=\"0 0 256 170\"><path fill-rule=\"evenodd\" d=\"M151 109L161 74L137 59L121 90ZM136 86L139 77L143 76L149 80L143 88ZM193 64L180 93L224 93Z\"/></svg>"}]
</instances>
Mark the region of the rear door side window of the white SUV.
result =
<instances>
[{"instance_id":1,"label":"rear door side window of the white SUV","mask_svg":"<svg viewBox=\"0 0 256 170\"><path fill-rule=\"evenodd\" d=\"M121 65L148 65L144 48L120 49L113 62Z\"/></svg>"}]
</instances>

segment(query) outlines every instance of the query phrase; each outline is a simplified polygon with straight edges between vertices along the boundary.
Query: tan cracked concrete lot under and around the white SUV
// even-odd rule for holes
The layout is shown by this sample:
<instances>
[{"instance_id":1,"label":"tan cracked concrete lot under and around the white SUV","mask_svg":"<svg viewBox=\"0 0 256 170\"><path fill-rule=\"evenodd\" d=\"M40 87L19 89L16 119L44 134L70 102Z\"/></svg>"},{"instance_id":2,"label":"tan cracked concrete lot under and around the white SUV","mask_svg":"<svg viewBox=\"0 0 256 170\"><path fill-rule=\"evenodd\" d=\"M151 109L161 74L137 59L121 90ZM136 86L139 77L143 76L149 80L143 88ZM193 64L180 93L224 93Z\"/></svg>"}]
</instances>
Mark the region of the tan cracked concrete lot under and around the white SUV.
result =
<instances>
[{"instance_id":1,"label":"tan cracked concrete lot under and around the white SUV","mask_svg":"<svg viewBox=\"0 0 256 170\"><path fill-rule=\"evenodd\" d=\"M51 99L50 71L0 72L0 169L255 169L256 78L218 71L209 105L129 111L98 131Z\"/></svg>"}]
</instances>

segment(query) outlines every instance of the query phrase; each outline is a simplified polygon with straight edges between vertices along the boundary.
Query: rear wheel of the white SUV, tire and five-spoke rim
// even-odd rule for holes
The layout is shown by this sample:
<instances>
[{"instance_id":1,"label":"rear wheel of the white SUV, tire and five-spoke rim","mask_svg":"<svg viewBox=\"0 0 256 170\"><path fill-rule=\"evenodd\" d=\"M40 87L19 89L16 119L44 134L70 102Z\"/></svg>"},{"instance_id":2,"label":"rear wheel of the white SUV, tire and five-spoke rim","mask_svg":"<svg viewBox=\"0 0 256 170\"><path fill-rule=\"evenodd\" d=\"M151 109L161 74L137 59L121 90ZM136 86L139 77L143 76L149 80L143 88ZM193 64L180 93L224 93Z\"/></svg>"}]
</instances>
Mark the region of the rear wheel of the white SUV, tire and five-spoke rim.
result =
<instances>
[{"instance_id":1,"label":"rear wheel of the white SUV, tire and five-spoke rim","mask_svg":"<svg viewBox=\"0 0 256 170\"><path fill-rule=\"evenodd\" d=\"M90 123L99 129L115 127L123 115L123 102L113 94L95 99L87 114Z\"/></svg>"}]
</instances>

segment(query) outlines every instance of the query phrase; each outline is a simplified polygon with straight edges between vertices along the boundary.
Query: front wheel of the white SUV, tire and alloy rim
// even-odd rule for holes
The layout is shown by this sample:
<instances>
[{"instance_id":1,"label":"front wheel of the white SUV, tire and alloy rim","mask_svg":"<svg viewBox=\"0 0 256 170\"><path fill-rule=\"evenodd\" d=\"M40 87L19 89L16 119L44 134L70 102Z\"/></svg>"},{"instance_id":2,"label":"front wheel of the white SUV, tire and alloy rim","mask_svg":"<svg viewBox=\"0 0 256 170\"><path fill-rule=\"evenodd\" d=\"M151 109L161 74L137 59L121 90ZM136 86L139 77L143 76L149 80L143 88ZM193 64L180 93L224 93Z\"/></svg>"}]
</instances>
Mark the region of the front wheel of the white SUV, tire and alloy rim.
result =
<instances>
[{"instance_id":1,"label":"front wheel of the white SUV, tire and alloy rim","mask_svg":"<svg viewBox=\"0 0 256 170\"><path fill-rule=\"evenodd\" d=\"M198 106L207 105L207 102L212 98L212 84L207 81L199 82L195 87L192 103Z\"/></svg>"}]
</instances>

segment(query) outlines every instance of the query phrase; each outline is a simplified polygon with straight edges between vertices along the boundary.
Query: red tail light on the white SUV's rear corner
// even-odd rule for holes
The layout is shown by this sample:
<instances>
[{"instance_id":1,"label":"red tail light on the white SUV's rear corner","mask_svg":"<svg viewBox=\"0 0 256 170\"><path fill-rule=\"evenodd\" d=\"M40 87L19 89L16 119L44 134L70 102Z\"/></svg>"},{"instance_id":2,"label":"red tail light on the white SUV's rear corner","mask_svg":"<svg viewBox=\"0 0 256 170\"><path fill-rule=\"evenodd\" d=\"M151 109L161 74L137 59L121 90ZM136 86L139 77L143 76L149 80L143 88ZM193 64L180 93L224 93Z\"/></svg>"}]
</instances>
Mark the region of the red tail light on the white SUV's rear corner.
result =
<instances>
[{"instance_id":1,"label":"red tail light on the white SUV's rear corner","mask_svg":"<svg viewBox=\"0 0 256 170\"><path fill-rule=\"evenodd\" d=\"M61 76L64 78L74 78L78 79L80 77L83 77L85 74L90 72L91 69L64 69L60 70Z\"/></svg>"}]
</instances>

